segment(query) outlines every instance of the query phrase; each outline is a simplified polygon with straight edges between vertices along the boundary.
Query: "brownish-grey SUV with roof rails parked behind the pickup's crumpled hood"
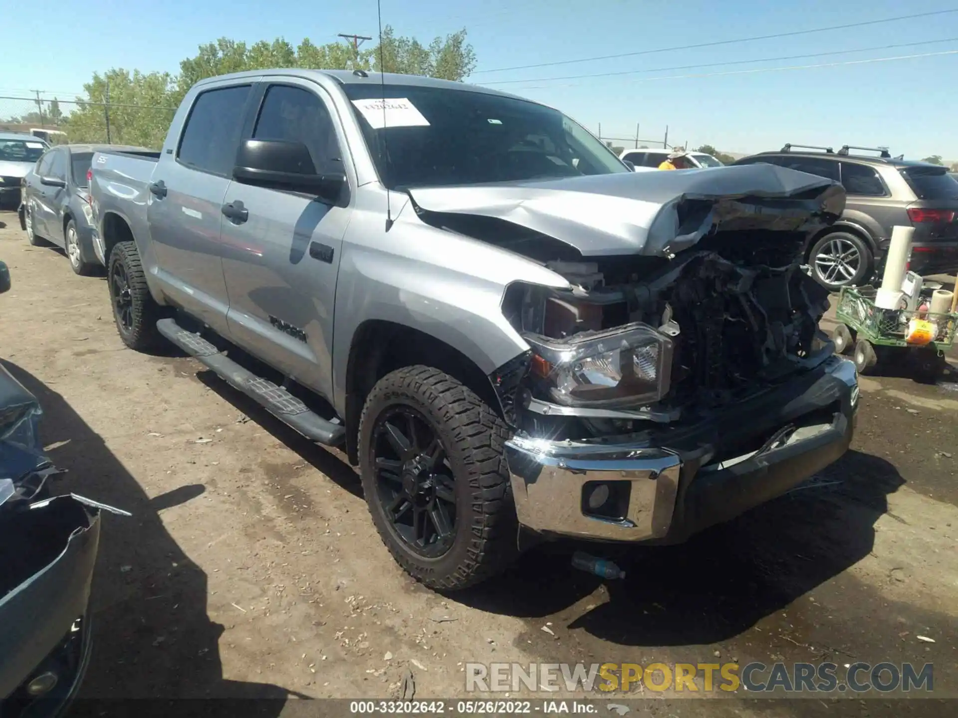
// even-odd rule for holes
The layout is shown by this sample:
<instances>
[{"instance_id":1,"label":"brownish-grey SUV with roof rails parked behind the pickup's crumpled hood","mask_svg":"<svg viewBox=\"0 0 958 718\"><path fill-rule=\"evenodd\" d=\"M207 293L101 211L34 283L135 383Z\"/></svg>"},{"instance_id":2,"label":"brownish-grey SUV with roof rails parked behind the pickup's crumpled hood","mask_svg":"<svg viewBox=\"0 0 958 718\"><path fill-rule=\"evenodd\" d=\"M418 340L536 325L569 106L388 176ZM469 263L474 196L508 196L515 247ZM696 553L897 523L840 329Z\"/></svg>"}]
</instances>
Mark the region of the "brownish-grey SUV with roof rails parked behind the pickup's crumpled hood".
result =
<instances>
[{"instance_id":1,"label":"brownish-grey SUV with roof rails parked behind the pickup's crumpled hood","mask_svg":"<svg viewBox=\"0 0 958 718\"><path fill-rule=\"evenodd\" d=\"M895 225L915 227L912 271L929 275L958 269L958 181L947 168L892 158L881 147L847 145L837 152L832 147L786 145L735 164L755 162L828 177L845 187L845 212L809 242L812 274L827 288L872 280L882 267Z\"/></svg>"}]
</instances>

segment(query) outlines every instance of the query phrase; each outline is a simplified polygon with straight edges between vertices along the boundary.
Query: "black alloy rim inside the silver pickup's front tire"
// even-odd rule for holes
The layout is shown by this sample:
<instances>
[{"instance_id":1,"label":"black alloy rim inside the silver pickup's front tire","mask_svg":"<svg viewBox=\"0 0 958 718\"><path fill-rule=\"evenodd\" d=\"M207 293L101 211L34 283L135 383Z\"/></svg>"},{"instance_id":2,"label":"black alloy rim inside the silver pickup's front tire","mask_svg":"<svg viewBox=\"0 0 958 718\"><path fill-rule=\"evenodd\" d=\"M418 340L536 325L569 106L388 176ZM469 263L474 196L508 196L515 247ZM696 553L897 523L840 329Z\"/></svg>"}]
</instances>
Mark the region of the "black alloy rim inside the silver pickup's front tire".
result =
<instances>
[{"instance_id":1,"label":"black alloy rim inside the silver pickup's front tire","mask_svg":"<svg viewBox=\"0 0 958 718\"><path fill-rule=\"evenodd\" d=\"M455 539L456 491L435 427L416 409L394 405L376 419L371 449L390 529L423 558L442 556Z\"/></svg>"}]
</instances>

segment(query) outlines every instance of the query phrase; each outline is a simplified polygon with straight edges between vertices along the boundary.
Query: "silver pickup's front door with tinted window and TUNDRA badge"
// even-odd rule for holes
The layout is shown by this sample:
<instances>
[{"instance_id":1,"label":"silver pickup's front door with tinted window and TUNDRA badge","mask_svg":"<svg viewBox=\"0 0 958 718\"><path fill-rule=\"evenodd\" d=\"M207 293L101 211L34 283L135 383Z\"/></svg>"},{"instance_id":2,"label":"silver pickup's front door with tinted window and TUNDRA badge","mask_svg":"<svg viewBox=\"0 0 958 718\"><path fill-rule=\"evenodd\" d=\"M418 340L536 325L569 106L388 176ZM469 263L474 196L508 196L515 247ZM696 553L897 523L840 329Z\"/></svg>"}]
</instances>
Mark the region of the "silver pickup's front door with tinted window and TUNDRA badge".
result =
<instances>
[{"instance_id":1,"label":"silver pickup's front door with tinted window and TUNDRA badge","mask_svg":"<svg viewBox=\"0 0 958 718\"><path fill-rule=\"evenodd\" d=\"M334 105L313 82L262 79L244 138L301 142L316 171L346 173ZM353 181L353 186L354 181ZM314 194L234 181L224 200L223 271L233 340L327 399L332 397L332 321L349 192L334 204Z\"/></svg>"}]
</instances>

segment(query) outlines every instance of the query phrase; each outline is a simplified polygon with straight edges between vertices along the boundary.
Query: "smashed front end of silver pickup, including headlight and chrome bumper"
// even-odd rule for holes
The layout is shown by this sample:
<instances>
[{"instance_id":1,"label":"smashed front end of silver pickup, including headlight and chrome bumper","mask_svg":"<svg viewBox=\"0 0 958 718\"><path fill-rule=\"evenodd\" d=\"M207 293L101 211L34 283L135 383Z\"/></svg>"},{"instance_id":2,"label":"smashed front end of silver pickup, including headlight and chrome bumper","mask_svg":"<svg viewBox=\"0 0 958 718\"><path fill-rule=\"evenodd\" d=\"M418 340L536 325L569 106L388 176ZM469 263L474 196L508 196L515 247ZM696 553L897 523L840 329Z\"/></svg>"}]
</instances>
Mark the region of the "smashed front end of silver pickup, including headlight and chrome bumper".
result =
<instances>
[{"instance_id":1,"label":"smashed front end of silver pickup, including headlight and chrome bumper","mask_svg":"<svg viewBox=\"0 0 958 718\"><path fill-rule=\"evenodd\" d=\"M808 177L790 192L673 197L631 255L580 238L550 258L546 238L522 238L569 283L513 283L502 304L530 347L492 377L523 525L679 541L844 453L855 370L819 331L829 297L802 267L844 193Z\"/></svg>"}]
</instances>

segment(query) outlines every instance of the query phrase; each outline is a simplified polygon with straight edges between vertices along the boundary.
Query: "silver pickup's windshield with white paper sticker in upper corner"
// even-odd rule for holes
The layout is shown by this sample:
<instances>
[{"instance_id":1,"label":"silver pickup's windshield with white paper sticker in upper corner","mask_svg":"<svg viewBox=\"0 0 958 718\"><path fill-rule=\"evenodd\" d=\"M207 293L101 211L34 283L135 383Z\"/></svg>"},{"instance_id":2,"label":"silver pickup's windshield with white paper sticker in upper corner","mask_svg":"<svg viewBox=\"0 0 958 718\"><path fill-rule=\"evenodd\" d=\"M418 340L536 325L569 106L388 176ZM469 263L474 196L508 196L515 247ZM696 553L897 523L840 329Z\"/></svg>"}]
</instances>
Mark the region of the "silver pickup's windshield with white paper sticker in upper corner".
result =
<instances>
[{"instance_id":1,"label":"silver pickup's windshield with white paper sticker in upper corner","mask_svg":"<svg viewBox=\"0 0 958 718\"><path fill-rule=\"evenodd\" d=\"M386 85L383 130L383 88L344 89L379 177L391 190L629 171L581 125L535 102Z\"/></svg>"}]
</instances>

